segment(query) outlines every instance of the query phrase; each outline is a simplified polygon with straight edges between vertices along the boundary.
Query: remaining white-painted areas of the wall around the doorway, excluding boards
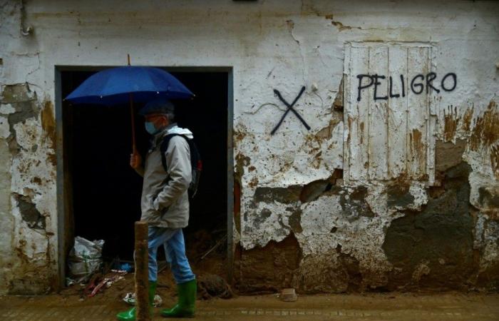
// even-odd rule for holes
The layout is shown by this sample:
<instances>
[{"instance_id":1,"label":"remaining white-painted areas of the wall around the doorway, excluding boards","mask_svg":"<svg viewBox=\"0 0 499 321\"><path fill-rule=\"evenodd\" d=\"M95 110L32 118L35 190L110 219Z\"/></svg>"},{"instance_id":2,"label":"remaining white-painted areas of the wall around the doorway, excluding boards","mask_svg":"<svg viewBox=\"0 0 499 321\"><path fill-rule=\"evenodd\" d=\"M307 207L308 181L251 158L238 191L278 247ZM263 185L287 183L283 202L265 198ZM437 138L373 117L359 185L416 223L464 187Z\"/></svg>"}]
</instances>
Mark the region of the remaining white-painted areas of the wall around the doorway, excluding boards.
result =
<instances>
[{"instance_id":1,"label":"remaining white-painted areas of the wall around the doorway, excluding boards","mask_svg":"<svg viewBox=\"0 0 499 321\"><path fill-rule=\"evenodd\" d=\"M247 220L241 215L242 235L237 235L245 249L282 240L291 231L285 205L261 202L256 210L251 208L255 188L307 184L344 168L348 131L343 119L333 122L330 137L317 139L316 134L336 119L331 105L344 72L349 72L344 70L347 44L414 42L432 47L432 66L439 72L455 72L459 81L456 91L442 95L434 106L437 139L443 138L448 106L456 107L457 118L473 106L474 119L490 101L497 101L499 6L494 1L27 1L22 24L33 27L29 36L21 35L19 1L2 2L1 91L6 85L28 83L40 108L46 101L55 102L55 66L123 65L130 54L133 65L234 68L235 133L244 137L236 139L235 156L251 159L244 165L241 182L241 210ZM271 136L284 111L273 89L291 102L302 86L307 89L295 108L311 130L289 113ZM21 151L7 153L9 106L1 108L0 292L7 292L19 278L29 280L26 286L35 284L39 292L57 271L56 172L47 161L54 151L38 116L14 126ZM458 128L451 141L468 138L470 131ZM32 153L34 144L38 149ZM488 220L490 209L478 201L478 188L498 188L498 168L494 172L490 153L493 148L480 146L475 151L468 148L464 156L473 168L471 201L482 221ZM32 183L34 177L43 184ZM382 182L357 184L369 187L368 203L375 218L346 220L339 196L322 196L295 205L303 211L303 231L296 237L305 255L341 244L345 253L359 260L361 270L367 275L371 271L371 285L378 285L384 280L376 275L391 268L381 249L384 230L401 214L387 208ZM348 186L344 190L349 193ZM6 197L11 193L31 197L47 217L47 233L26 226L16 200ZM411 206L426 203L421 183L413 183L411 193ZM262 208L272 215L255 228ZM329 233L333 225L341 232ZM497 233L488 233L490 238L497 239ZM484 265L497 262L497 243L477 246L488 247ZM41 268L43 273L37 270Z\"/></svg>"}]
</instances>

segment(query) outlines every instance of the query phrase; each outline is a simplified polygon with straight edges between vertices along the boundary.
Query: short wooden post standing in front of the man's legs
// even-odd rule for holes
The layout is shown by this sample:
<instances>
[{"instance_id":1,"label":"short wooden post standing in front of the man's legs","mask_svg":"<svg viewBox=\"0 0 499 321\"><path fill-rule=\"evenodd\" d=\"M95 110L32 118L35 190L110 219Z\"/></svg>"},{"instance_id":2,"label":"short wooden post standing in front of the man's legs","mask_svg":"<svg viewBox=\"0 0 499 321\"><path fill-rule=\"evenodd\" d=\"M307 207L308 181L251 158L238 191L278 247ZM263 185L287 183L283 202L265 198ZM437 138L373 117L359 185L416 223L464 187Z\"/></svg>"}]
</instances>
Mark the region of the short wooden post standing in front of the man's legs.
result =
<instances>
[{"instance_id":1,"label":"short wooden post standing in front of the man's legs","mask_svg":"<svg viewBox=\"0 0 499 321\"><path fill-rule=\"evenodd\" d=\"M150 321L149 270L148 270L148 223L135 222L135 320Z\"/></svg>"}]
</instances>

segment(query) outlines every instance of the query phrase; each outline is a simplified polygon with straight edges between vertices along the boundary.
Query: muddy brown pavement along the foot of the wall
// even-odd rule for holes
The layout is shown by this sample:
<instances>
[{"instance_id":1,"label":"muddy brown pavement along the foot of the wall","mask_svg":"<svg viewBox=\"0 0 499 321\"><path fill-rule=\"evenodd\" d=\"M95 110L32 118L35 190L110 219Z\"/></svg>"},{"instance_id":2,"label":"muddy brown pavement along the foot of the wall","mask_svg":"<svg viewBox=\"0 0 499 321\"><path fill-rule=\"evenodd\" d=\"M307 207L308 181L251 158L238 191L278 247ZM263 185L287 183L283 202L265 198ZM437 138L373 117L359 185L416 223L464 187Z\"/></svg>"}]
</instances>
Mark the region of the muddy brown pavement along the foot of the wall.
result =
<instances>
[{"instance_id":1,"label":"muddy brown pavement along the foot of the wall","mask_svg":"<svg viewBox=\"0 0 499 321\"><path fill-rule=\"evenodd\" d=\"M163 297L165 305L173 297ZM0 297L2 321L115 320L127 306L113 295L81 301L78 295ZM152 320L165 320L155 309ZM197 302L190 320L499 320L499 294L306 295L282 302L276 295Z\"/></svg>"}]
</instances>

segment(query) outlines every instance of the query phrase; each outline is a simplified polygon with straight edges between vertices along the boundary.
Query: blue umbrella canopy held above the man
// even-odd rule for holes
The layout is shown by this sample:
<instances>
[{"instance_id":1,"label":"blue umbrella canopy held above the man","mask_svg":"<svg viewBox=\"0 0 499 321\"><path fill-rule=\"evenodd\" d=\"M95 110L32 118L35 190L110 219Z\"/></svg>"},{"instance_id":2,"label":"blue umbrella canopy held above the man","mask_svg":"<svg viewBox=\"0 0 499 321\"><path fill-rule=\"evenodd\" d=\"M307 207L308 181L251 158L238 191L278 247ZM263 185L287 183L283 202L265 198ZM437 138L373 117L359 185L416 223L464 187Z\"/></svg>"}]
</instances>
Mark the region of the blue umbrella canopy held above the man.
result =
<instances>
[{"instance_id":1,"label":"blue umbrella canopy held above the man","mask_svg":"<svg viewBox=\"0 0 499 321\"><path fill-rule=\"evenodd\" d=\"M153 67L109 68L88 77L70 93L71 103L96 103L112 106L133 101L145 103L155 98L185 99L194 96L170 73Z\"/></svg>"}]
</instances>

